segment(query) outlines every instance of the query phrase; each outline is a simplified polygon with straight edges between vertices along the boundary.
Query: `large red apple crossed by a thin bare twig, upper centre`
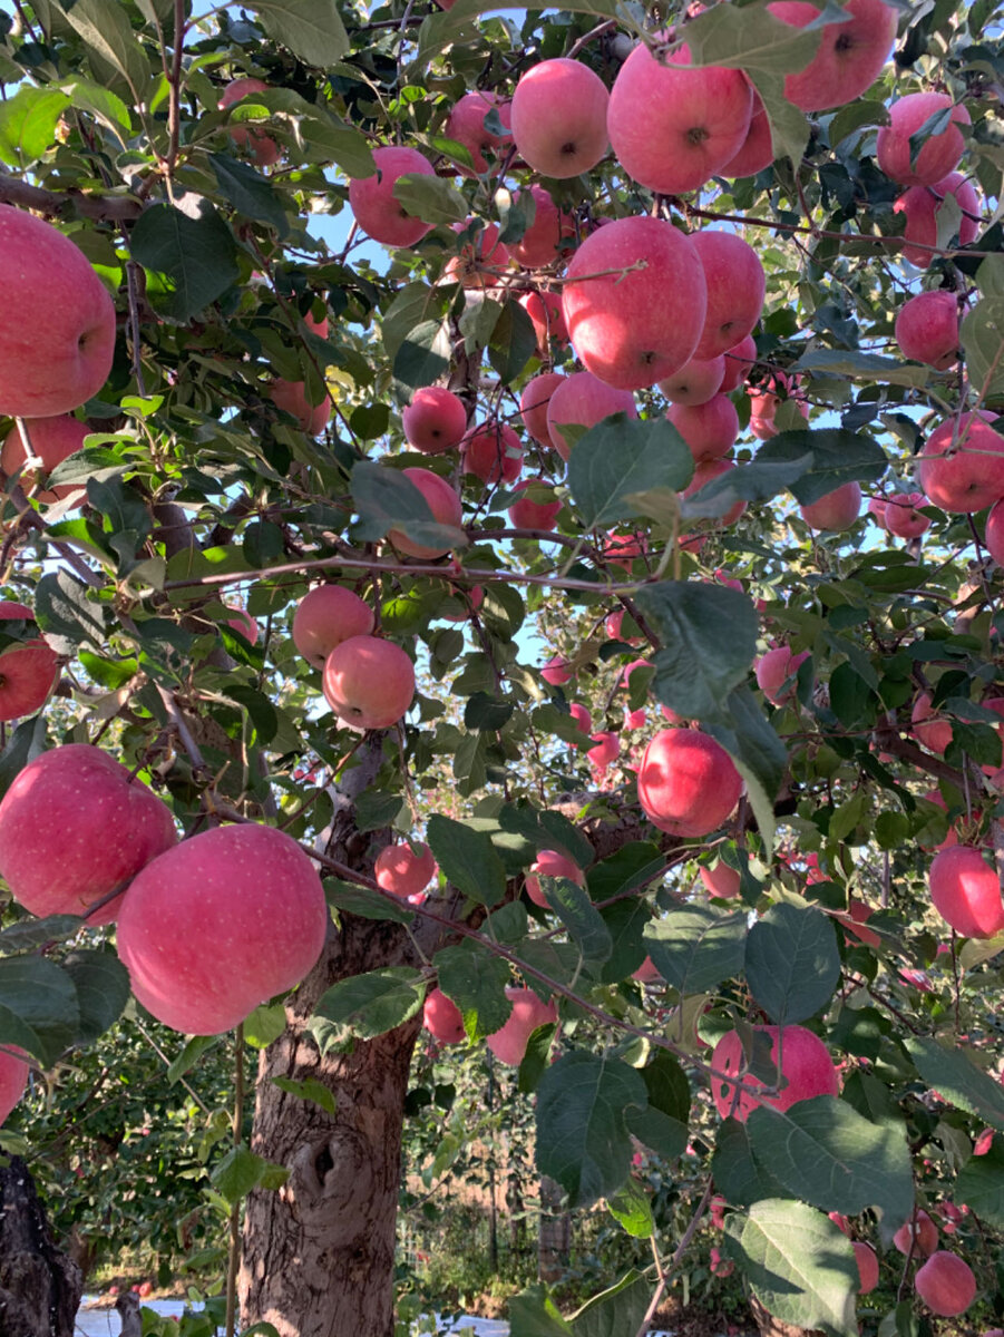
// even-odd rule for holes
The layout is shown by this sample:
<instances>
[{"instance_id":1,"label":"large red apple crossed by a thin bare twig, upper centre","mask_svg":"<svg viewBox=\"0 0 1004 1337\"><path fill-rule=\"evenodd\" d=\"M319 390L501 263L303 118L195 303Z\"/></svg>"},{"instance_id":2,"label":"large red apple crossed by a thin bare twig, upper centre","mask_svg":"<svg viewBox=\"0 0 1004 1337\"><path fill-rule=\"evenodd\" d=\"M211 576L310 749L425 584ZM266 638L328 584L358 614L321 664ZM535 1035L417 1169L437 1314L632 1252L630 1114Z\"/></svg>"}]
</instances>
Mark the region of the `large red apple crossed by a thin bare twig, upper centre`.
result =
<instances>
[{"instance_id":1,"label":"large red apple crossed by a thin bare twig, upper centre","mask_svg":"<svg viewBox=\"0 0 1004 1337\"><path fill-rule=\"evenodd\" d=\"M647 55L644 47L638 52ZM646 135L651 130L646 123ZM561 301L586 370L620 390L640 390L694 357L707 285L693 239L672 223L619 218L578 249Z\"/></svg>"}]
</instances>

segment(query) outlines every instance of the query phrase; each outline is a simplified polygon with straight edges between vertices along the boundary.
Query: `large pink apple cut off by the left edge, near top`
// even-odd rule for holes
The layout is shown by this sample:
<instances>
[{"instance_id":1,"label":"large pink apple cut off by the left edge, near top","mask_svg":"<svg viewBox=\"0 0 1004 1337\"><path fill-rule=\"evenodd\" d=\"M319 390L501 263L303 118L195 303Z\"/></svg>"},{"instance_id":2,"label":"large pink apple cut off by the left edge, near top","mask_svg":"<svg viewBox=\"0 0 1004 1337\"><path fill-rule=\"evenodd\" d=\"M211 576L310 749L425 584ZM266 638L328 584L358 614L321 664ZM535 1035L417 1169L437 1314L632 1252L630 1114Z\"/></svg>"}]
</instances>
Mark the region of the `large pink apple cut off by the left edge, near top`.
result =
<instances>
[{"instance_id":1,"label":"large pink apple cut off by the left edge, near top","mask_svg":"<svg viewBox=\"0 0 1004 1337\"><path fill-rule=\"evenodd\" d=\"M51 223L1 205L0 291L0 413L55 417L96 394L115 352L115 306L84 253Z\"/></svg>"}]
</instances>

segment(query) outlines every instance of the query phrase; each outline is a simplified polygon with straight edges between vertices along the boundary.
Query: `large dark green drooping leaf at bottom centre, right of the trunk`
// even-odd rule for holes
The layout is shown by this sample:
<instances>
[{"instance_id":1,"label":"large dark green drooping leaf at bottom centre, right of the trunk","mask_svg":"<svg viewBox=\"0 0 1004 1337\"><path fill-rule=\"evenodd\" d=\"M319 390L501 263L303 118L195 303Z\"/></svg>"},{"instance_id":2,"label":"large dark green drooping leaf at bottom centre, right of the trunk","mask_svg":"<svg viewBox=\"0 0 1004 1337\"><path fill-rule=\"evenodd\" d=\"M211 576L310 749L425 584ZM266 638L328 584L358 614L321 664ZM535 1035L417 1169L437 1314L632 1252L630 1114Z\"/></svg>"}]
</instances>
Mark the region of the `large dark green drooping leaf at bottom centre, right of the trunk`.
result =
<instances>
[{"instance_id":1,"label":"large dark green drooping leaf at bottom centre, right of the trunk","mask_svg":"<svg viewBox=\"0 0 1004 1337\"><path fill-rule=\"evenodd\" d=\"M537 1087L536 1163L568 1194L571 1207L608 1198L631 1165L626 1114L648 1103L626 1063L582 1051L563 1055Z\"/></svg>"}]
</instances>

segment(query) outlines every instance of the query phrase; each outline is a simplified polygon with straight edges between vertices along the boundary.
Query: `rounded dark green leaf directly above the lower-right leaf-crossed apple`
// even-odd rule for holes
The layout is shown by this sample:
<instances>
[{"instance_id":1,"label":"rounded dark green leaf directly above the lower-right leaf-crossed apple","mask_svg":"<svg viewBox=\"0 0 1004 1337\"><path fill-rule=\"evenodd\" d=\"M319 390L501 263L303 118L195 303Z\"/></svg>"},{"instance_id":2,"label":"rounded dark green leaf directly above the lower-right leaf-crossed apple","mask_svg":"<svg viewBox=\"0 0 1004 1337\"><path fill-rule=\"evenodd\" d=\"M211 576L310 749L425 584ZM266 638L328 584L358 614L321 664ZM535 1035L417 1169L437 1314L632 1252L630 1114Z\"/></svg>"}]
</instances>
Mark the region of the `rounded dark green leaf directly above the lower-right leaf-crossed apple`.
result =
<instances>
[{"instance_id":1,"label":"rounded dark green leaf directly above the lower-right leaf-crossed apple","mask_svg":"<svg viewBox=\"0 0 1004 1337\"><path fill-rule=\"evenodd\" d=\"M805 1021L832 999L840 979L833 921L811 905L771 905L746 939L746 979L771 1021Z\"/></svg>"}]
</instances>

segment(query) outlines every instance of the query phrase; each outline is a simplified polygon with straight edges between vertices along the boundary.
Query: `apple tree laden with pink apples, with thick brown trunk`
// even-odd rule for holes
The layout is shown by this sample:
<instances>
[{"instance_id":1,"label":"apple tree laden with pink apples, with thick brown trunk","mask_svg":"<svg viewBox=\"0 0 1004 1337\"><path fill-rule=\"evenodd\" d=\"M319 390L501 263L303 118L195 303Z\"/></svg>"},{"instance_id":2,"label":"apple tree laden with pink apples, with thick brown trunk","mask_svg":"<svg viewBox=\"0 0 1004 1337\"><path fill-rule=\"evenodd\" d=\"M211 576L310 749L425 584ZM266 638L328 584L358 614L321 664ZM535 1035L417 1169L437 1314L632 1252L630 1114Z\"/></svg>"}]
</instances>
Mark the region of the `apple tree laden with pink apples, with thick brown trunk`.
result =
<instances>
[{"instance_id":1,"label":"apple tree laden with pink apples, with thick brown trunk","mask_svg":"<svg viewBox=\"0 0 1004 1337\"><path fill-rule=\"evenodd\" d=\"M230 1332L394 1330L422 1023L651 1239L513 1337L1004 1312L1000 20L3 16L0 1122L233 1043Z\"/></svg>"}]
</instances>

